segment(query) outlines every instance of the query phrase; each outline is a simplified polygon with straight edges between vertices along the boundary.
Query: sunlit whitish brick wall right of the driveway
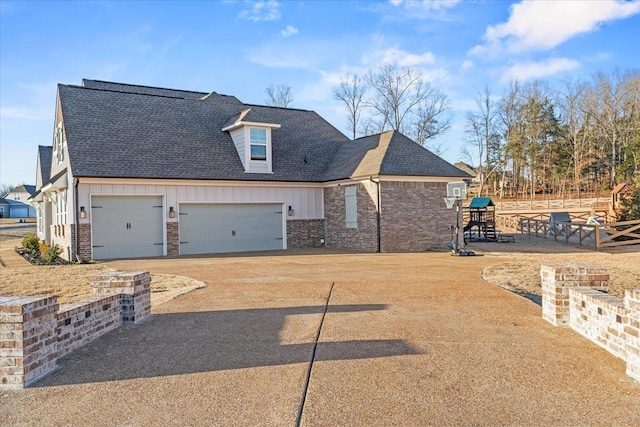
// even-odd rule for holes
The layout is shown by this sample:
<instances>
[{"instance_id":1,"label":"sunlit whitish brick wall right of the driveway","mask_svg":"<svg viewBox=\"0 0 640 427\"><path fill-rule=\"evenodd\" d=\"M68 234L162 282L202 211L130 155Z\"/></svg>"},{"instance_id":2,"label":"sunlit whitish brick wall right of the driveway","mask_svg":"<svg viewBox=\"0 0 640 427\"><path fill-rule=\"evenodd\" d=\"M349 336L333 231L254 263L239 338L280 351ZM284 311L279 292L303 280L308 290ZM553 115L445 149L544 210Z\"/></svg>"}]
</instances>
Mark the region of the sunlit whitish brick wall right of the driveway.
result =
<instances>
[{"instance_id":1,"label":"sunlit whitish brick wall right of the driveway","mask_svg":"<svg viewBox=\"0 0 640 427\"><path fill-rule=\"evenodd\" d=\"M542 317L626 361L627 375L640 381L640 289L609 295L608 274L593 266L543 265L541 276Z\"/></svg>"}]
</instances>

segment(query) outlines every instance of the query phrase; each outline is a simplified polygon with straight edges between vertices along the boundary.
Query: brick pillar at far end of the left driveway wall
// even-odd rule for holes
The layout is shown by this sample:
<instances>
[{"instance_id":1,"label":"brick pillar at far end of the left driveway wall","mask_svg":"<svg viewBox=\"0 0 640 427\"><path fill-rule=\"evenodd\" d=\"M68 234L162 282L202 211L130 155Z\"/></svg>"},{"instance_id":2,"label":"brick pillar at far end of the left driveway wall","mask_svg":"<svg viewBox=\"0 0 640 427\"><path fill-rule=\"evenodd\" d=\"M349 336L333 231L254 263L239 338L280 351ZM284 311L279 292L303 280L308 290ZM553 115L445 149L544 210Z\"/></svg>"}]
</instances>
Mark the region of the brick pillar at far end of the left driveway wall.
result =
<instances>
[{"instance_id":1,"label":"brick pillar at far end of the left driveway wall","mask_svg":"<svg viewBox=\"0 0 640 427\"><path fill-rule=\"evenodd\" d=\"M120 293L122 322L135 323L151 312L151 274L149 272L102 273L91 281L94 294Z\"/></svg>"}]
</instances>

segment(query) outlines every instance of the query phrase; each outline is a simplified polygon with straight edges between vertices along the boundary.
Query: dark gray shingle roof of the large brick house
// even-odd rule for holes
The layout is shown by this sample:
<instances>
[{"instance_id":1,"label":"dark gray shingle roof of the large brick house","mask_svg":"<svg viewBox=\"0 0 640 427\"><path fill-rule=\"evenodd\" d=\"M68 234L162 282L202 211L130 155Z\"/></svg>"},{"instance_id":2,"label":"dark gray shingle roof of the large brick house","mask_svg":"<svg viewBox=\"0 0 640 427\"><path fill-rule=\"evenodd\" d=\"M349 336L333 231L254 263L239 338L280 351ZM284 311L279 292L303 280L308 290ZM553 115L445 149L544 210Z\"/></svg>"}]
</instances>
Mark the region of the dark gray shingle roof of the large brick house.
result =
<instances>
[{"instance_id":1,"label":"dark gray shingle roof of the large brick house","mask_svg":"<svg viewBox=\"0 0 640 427\"><path fill-rule=\"evenodd\" d=\"M292 182L374 174L467 177L397 132L350 141L314 111L243 104L215 92L96 80L58 85L58 91L77 177ZM272 130L273 174L245 173L229 132L222 131L247 109L245 121L281 125Z\"/></svg>"}]
</instances>

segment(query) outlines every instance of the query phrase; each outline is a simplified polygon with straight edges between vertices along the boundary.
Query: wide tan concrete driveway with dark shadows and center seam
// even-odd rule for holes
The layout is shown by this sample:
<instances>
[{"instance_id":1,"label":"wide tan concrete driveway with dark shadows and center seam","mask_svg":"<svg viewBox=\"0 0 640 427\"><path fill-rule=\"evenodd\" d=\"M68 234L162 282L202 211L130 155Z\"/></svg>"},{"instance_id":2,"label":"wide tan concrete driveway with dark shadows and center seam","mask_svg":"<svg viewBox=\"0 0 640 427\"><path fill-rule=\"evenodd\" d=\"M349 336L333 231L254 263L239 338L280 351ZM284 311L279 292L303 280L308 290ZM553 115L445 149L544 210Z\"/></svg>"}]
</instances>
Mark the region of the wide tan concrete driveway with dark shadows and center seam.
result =
<instances>
[{"instance_id":1,"label":"wide tan concrete driveway with dark shadows and center seam","mask_svg":"<svg viewBox=\"0 0 640 427\"><path fill-rule=\"evenodd\" d=\"M640 384L624 363L480 279L495 262L112 262L209 286L4 392L0 425L640 425Z\"/></svg>"}]
</instances>

